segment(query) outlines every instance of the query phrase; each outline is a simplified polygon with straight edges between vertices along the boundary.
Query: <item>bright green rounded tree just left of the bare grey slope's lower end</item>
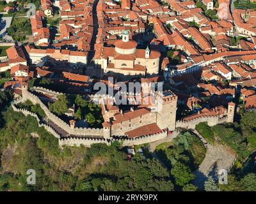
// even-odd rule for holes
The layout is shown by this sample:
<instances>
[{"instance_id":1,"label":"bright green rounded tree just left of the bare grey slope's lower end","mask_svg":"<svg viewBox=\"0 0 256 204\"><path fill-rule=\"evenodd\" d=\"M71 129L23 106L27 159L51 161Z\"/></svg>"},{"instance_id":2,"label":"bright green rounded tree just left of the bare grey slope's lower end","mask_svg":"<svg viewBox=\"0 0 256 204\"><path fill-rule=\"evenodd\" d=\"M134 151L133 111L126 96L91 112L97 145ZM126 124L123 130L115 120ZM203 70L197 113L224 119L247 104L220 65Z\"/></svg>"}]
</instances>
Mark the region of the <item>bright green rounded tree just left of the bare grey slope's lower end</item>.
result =
<instances>
[{"instance_id":1,"label":"bright green rounded tree just left of the bare grey slope's lower end","mask_svg":"<svg viewBox=\"0 0 256 204\"><path fill-rule=\"evenodd\" d=\"M171 174L175 179L175 184L178 186L184 186L188 184L189 181L195 179L195 175L191 173L189 167L179 161L173 166Z\"/></svg>"}]
</instances>

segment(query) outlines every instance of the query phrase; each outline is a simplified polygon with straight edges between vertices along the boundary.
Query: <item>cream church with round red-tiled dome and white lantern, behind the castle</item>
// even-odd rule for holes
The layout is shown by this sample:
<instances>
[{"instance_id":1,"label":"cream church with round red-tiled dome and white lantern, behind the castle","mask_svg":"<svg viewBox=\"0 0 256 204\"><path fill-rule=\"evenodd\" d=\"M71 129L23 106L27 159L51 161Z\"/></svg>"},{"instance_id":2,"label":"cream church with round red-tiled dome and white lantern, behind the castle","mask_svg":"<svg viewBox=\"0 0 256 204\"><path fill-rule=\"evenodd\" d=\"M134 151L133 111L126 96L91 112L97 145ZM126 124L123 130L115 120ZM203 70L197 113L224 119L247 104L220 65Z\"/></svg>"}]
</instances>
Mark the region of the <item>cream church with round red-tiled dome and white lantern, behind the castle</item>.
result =
<instances>
[{"instance_id":1,"label":"cream church with round red-tiled dome and white lantern, behind the castle","mask_svg":"<svg viewBox=\"0 0 256 204\"><path fill-rule=\"evenodd\" d=\"M104 73L120 75L157 75L159 72L160 52L137 49L137 42L129 40L129 31L124 30L122 39L116 40L115 47L102 47L95 64L101 66Z\"/></svg>"}]
</instances>

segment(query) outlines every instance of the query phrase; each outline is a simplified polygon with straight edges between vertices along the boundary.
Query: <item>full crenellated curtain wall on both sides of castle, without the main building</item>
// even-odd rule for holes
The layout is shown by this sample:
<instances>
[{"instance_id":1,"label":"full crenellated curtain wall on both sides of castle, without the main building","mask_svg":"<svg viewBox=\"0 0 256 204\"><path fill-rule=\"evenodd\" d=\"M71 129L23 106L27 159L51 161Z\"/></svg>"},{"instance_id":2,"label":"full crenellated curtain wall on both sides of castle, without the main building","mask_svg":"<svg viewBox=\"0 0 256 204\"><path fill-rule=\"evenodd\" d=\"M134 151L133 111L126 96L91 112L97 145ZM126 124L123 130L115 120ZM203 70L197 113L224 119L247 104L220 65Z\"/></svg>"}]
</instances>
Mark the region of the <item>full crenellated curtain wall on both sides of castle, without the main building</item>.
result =
<instances>
[{"instance_id":1,"label":"full crenellated curtain wall on both sides of castle, without the main building","mask_svg":"<svg viewBox=\"0 0 256 204\"><path fill-rule=\"evenodd\" d=\"M49 91L48 94L60 94L59 92L54 92L48 89L44 89L42 87L33 87L34 91ZM102 97L102 96L101 96ZM28 110L17 108L15 104L22 103L26 100L30 100L34 105L39 104L42 110L44 110L45 115L47 116L48 120L51 120L58 126L58 128L63 129L68 133L67 137L61 136L58 133L58 128L54 128L54 126L49 126L49 124L45 124L44 121L40 121L38 115L36 113L29 112ZM130 146L130 145L141 145L143 143L150 143L156 142L157 140L161 140L168 136L168 131L161 131L160 133L155 133L152 135L143 135L138 136L136 138L113 138L113 137L106 137L104 138L104 129L103 128L72 128L69 124L65 121L61 120L59 117L54 115L50 112L47 106L42 103L42 101L36 96L35 94L28 91L26 87L22 88L22 97L15 99L12 103L12 108L16 112L22 112L24 115L32 115L38 121L40 127L44 126L44 128L52 133L56 138L59 140L59 146L63 147L63 145L68 146L79 146L84 145L85 147L90 147L92 143L106 143L110 145L112 142L122 142L123 146ZM214 126L216 124L220 124L223 122L228 122L228 117L221 117L219 115L216 116L207 116L207 117L197 117L196 119L191 120L177 120L176 121L176 128L186 128L186 129L195 129L196 124L199 122L207 122L209 126ZM173 131L172 138L175 138L179 133L177 131ZM118 135L117 135L118 136Z\"/></svg>"}]
</instances>

